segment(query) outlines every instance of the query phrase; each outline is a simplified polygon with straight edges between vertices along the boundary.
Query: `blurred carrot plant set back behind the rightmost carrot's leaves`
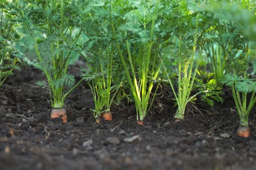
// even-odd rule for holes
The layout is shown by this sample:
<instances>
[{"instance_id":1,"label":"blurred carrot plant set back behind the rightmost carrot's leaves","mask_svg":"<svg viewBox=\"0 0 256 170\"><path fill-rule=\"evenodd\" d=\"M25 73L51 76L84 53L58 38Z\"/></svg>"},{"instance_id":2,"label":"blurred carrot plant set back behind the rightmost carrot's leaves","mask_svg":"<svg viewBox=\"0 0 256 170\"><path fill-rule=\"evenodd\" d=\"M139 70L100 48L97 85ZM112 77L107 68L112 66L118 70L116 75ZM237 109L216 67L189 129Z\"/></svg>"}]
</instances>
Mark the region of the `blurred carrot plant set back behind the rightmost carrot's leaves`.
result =
<instances>
[{"instance_id":1,"label":"blurred carrot plant set back behind the rightmost carrot's leaves","mask_svg":"<svg viewBox=\"0 0 256 170\"><path fill-rule=\"evenodd\" d=\"M230 51L242 48L240 43L235 44L234 42L244 38L240 37L241 33L234 24L215 18L212 13L207 12L207 14L213 17L209 20L213 20L215 25L205 31L204 36L207 42L204 50L207 55L209 69L214 73L217 84L222 86L221 78L230 72L228 63L228 59L231 57Z\"/></svg>"}]
</instances>

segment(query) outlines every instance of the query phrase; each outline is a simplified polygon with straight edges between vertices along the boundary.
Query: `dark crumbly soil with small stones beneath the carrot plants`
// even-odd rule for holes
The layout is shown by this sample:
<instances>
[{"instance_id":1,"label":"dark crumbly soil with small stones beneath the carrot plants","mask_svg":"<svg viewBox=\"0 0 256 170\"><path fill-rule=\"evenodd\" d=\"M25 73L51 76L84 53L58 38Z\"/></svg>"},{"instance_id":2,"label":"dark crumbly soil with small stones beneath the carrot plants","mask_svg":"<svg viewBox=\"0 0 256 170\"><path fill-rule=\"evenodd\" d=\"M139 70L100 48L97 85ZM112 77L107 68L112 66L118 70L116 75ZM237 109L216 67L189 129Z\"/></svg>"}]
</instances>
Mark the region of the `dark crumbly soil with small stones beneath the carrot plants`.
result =
<instances>
[{"instance_id":1,"label":"dark crumbly soil with small stones beneath the carrot plants","mask_svg":"<svg viewBox=\"0 0 256 170\"><path fill-rule=\"evenodd\" d=\"M68 123L51 120L40 71L24 67L0 87L0 169L255 169L255 109L251 136L238 137L230 91L213 108L189 104L175 122L173 94L163 86L139 126L133 103L113 105L113 120L95 123L83 83L66 99Z\"/></svg>"}]
</instances>

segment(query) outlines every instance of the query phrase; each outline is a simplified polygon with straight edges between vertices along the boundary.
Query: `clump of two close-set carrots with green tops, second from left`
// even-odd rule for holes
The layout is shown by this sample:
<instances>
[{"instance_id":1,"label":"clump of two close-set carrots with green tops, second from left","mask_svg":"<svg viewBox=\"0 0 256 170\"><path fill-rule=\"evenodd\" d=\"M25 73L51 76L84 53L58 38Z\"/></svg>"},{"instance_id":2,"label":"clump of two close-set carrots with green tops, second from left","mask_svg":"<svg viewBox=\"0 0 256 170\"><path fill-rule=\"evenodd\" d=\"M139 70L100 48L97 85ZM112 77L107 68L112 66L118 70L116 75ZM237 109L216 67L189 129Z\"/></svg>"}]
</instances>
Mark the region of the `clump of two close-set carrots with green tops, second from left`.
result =
<instances>
[{"instance_id":1,"label":"clump of two close-set carrots with green tops, second from left","mask_svg":"<svg viewBox=\"0 0 256 170\"><path fill-rule=\"evenodd\" d=\"M91 6L94 10L87 22L94 29L86 33L89 46L84 48L89 55L85 57L87 67L83 69L82 76L89 82L93 93L95 109L91 110L96 121L100 120L100 115L105 120L112 120L110 107L122 83L122 78L116 75L122 70L112 41L108 6L100 1Z\"/></svg>"}]
</instances>

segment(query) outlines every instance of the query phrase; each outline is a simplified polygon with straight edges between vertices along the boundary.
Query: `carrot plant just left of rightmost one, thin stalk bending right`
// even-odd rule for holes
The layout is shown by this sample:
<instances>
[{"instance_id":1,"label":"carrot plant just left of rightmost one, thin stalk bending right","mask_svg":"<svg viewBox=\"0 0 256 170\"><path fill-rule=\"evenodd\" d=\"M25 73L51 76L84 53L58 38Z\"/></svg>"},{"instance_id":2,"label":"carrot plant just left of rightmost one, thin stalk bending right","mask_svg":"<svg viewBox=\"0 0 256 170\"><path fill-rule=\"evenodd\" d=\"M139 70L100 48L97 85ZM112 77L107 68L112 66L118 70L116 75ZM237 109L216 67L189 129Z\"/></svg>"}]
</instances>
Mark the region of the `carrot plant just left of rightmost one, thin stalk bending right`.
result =
<instances>
[{"instance_id":1,"label":"carrot plant just left of rightmost one, thin stalk bending right","mask_svg":"<svg viewBox=\"0 0 256 170\"><path fill-rule=\"evenodd\" d=\"M167 75L167 81L175 95L178 106L175 118L179 120L184 119L186 105L190 101L194 101L197 95L208 93L209 89L190 95L194 88L194 81L205 44L205 39L198 40L198 35L202 35L204 31L203 27L199 27L200 14L191 13L186 1L181 1L179 7L173 11L173 18L177 18L177 21L171 25L176 31L172 35L173 38L169 40L173 43L170 46L169 58L175 58L177 61L177 90L175 80L169 78L165 67L165 62L169 62L169 58L161 59L161 63L163 71Z\"/></svg>"}]
</instances>

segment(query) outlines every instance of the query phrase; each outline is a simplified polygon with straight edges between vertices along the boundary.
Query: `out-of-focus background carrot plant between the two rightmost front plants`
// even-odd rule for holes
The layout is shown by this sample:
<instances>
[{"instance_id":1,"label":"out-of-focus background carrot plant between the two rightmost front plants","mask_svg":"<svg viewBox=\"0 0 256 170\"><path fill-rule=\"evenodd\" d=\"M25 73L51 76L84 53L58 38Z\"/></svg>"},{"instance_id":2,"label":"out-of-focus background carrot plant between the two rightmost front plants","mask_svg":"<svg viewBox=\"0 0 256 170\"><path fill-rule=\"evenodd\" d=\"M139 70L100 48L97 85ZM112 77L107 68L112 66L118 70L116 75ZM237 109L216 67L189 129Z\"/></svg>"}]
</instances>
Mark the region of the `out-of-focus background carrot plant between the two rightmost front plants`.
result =
<instances>
[{"instance_id":1,"label":"out-of-focus background carrot plant between the two rightmost front plants","mask_svg":"<svg viewBox=\"0 0 256 170\"><path fill-rule=\"evenodd\" d=\"M209 9L211 5L209 5ZM221 78L229 73L228 58L230 50L237 48L234 41L238 39L240 34L234 25L217 18L214 10L208 10L203 6L197 9L201 13L202 24L205 27L205 32L201 36L205 39L203 51L207 59L207 66L211 73L214 73L214 78L219 86Z\"/></svg>"}]
</instances>

